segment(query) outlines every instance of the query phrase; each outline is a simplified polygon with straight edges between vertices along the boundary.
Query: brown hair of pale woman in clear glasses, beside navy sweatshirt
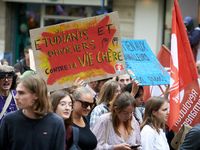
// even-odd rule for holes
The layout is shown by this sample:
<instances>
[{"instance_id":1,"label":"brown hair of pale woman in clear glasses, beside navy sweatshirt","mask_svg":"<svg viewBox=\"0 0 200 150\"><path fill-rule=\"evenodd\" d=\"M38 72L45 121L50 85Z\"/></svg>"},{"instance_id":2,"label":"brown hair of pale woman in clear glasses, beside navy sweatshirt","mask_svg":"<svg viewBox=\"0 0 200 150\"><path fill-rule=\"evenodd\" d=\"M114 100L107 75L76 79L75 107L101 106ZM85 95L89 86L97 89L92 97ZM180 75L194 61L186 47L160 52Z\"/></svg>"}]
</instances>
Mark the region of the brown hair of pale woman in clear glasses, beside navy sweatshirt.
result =
<instances>
[{"instance_id":1,"label":"brown hair of pale woman in clear glasses, beside navy sweatshirt","mask_svg":"<svg viewBox=\"0 0 200 150\"><path fill-rule=\"evenodd\" d=\"M58 90L58 91L53 92L50 95L50 100L51 100L54 112L56 112L56 109L58 107L58 104L59 104L60 100L62 98L64 98L64 97L66 97L66 96L70 97L72 105L73 105L74 101L73 101L71 95L66 90ZM64 120L64 122L65 122L65 126L69 126L69 125L72 124L72 122L73 122L73 120L72 120L72 112L71 112L70 117L68 119Z\"/></svg>"}]
</instances>

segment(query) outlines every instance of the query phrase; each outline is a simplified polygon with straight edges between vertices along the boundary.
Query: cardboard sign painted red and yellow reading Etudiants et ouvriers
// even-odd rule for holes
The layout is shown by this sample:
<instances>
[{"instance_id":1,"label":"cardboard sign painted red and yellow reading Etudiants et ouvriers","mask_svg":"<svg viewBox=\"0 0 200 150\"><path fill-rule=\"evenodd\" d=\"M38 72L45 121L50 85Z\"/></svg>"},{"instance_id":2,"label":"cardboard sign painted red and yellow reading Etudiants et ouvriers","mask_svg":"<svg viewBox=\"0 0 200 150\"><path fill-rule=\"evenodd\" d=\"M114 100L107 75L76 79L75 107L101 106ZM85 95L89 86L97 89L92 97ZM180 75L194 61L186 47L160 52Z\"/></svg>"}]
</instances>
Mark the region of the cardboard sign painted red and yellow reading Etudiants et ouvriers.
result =
<instances>
[{"instance_id":1,"label":"cardboard sign painted red and yellow reading Etudiants et ouvriers","mask_svg":"<svg viewBox=\"0 0 200 150\"><path fill-rule=\"evenodd\" d=\"M37 74L49 91L126 72L118 13L30 30Z\"/></svg>"}]
</instances>

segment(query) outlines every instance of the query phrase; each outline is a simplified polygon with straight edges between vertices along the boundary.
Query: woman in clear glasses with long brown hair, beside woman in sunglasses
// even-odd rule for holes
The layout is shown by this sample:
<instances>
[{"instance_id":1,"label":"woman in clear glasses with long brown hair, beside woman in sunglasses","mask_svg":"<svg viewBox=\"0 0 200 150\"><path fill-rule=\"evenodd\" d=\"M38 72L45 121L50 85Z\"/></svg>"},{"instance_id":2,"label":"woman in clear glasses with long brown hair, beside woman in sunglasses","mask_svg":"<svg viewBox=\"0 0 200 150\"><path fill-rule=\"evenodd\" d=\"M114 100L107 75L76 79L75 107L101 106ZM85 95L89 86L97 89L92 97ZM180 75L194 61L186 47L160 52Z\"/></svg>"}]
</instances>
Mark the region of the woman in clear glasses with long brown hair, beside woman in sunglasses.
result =
<instances>
[{"instance_id":1,"label":"woman in clear glasses with long brown hair, beside woman in sunglasses","mask_svg":"<svg viewBox=\"0 0 200 150\"><path fill-rule=\"evenodd\" d=\"M65 123L66 143L65 149L68 150L73 143L72 131L72 108L73 100L69 93L65 90L58 90L51 94L50 100L53 105L53 111L63 118Z\"/></svg>"}]
</instances>

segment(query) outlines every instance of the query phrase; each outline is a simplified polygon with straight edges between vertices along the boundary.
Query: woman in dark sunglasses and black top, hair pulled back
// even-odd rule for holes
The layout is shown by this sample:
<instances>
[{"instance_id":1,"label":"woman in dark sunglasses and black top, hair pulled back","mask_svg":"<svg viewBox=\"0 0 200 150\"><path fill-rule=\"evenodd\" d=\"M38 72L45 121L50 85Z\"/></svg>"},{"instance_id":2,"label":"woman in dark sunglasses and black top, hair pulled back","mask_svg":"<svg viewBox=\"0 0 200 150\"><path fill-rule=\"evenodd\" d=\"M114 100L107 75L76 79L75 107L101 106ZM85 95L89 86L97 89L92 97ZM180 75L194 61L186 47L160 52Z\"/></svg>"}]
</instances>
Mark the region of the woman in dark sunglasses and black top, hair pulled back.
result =
<instances>
[{"instance_id":1,"label":"woman in dark sunglasses and black top, hair pulled back","mask_svg":"<svg viewBox=\"0 0 200 150\"><path fill-rule=\"evenodd\" d=\"M85 118L95 106L92 93L86 87L79 87L73 92L72 97L75 100L72 125L79 128L78 145L83 150L93 150L97 140Z\"/></svg>"}]
</instances>

